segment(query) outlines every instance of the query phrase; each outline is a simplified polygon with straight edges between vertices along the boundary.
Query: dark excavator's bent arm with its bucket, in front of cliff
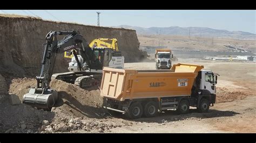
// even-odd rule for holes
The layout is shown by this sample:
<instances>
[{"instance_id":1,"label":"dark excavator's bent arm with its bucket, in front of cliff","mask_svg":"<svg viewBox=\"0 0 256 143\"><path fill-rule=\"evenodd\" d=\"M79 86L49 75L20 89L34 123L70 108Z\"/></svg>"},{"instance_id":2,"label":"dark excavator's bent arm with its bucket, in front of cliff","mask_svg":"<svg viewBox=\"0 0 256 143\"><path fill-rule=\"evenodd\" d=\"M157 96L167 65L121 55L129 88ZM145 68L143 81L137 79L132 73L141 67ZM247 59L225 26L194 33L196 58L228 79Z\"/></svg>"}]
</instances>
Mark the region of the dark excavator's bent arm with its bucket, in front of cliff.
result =
<instances>
[{"instance_id":1,"label":"dark excavator's bent arm with its bucket, in front of cliff","mask_svg":"<svg viewBox=\"0 0 256 143\"><path fill-rule=\"evenodd\" d=\"M57 35L66 36L58 41ZM29 93L23 96L23 103L49 109L57 100L57 91L51 90L49 87L57 54L76 49L90 69L93 68L93 61L96 56L78 31L50 31L45 39L41 72L39 76L36 76L37 87L31 88ZM77 63L80 63L75 52L74 55ZM79 69L81 70L81 65L79 65Z\"/></svg>"}]
</instances>

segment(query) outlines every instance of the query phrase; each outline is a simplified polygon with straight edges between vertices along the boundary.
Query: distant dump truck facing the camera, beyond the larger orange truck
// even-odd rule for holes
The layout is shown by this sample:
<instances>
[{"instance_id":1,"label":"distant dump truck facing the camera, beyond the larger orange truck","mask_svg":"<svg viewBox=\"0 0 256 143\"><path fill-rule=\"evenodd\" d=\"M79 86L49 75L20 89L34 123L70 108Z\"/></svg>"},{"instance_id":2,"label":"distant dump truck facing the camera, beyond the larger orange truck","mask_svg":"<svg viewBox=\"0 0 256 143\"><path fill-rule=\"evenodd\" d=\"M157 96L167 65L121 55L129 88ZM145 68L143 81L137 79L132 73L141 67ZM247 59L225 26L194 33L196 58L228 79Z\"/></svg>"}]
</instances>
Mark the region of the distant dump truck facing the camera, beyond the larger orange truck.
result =
<instances>
[{"instance_id":1,"label":"distant dump truck facing the camera, beyond the larger orange truck","mask_svg":"<svg viewBox=\"0 0 256 143\"><path fill-rule=\"evenodd\" d=\"M156 49L156 69L171 69L173 58L171 49Z\"/></svg>"}]
</instances>

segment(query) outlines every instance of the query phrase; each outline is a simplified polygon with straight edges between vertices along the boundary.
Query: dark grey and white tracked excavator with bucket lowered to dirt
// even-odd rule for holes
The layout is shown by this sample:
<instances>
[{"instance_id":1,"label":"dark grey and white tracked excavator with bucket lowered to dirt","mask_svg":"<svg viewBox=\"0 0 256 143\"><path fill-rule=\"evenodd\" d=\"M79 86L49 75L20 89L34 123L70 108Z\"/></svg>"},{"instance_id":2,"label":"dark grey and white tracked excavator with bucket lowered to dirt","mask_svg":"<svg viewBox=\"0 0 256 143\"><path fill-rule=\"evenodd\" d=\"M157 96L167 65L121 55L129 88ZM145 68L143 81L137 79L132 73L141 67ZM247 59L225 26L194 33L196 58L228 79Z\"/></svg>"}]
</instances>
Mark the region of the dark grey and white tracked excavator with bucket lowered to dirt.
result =
<instances>
[{"instance_id":1,"label":"dark grey and white tracked excavator with bucket lowered to dirt","mask_svg":"<svg viewBox=\"0 0 256 143\"><path fill-rule=\"evenodd\" d=\"M66 36L58 41L57 35ZM103 67L112 67L110 63L115 51L110 48L91 48L79 31L50 31L45 39L41 72L36 76L37 86L30 88L23 96L25 104L51 110L58 98L58 92L50 88L52 79L63 80L82 88L92 87L99 85ZM66 51L72 52L78 70L53 74L57 54Z\"/></svg>"}]
</instances>

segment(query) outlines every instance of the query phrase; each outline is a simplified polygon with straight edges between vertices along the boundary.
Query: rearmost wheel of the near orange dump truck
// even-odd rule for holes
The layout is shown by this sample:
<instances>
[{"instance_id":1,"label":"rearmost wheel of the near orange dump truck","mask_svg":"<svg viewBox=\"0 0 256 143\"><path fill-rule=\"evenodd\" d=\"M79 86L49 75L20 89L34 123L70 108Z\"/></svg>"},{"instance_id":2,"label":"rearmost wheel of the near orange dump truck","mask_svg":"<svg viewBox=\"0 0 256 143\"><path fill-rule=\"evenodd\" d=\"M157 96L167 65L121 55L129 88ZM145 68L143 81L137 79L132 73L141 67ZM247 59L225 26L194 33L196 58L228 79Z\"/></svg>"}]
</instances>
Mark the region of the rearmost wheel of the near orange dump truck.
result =
<instances>
[{"instance_id":1,"label":"rearmost wheel of the near orange dump truck","mask_svg":"<svg viewBox=\"0 0 256 143\"><path fill-rule=\"evenodd\" d=\"M134 102L130 105L129 111L125 115L130 119L138 119L142 117L143 107L139 102Z\"/></svg>"}]
</instances>

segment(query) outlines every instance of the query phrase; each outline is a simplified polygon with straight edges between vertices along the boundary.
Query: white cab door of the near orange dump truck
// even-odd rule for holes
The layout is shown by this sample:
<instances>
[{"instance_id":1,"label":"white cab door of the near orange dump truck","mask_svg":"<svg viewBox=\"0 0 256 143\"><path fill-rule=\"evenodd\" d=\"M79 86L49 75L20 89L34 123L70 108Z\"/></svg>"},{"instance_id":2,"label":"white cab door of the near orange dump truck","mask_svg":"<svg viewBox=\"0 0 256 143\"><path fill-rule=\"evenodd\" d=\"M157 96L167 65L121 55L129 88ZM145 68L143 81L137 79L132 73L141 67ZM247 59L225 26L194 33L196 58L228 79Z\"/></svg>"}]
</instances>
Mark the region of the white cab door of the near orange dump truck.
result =
<instances>
[{"instance_id":1,"label":"white cab door of the near orange dump truck","mask_svg":"<svg viewBox=\"0 0 256 143\"><path fill-rule=\"evenodd\" d=\"M204 89L211 92L211 94L215 94L215 81L213 73L205 73L205 82Z\"/></svg>"}]
</instances>

